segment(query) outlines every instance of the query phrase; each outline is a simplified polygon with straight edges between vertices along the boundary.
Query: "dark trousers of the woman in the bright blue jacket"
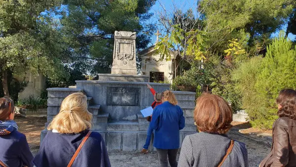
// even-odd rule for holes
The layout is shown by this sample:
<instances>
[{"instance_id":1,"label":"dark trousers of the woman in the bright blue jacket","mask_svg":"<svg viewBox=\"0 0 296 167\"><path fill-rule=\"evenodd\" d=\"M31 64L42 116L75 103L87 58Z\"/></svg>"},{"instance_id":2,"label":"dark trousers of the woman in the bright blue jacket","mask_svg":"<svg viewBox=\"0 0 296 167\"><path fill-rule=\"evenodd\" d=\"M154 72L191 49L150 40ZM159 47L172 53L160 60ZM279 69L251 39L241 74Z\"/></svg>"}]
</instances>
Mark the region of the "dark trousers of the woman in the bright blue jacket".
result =
<instances>
[{"instance_id":1,"label":"dark trousers of the woman in the bright blue jacket","mask_svg":"<svg viewBox=\"0 0 296 167\"><path fill-rule=\"evenodd\" d=\"M177 153L179 149L158 149L156 148L160 167L168 167L168 159L171 167L177 167Z\"/></svg>"}]
</instances>

